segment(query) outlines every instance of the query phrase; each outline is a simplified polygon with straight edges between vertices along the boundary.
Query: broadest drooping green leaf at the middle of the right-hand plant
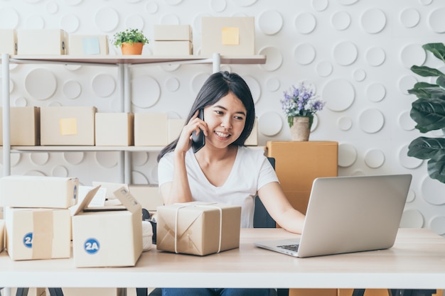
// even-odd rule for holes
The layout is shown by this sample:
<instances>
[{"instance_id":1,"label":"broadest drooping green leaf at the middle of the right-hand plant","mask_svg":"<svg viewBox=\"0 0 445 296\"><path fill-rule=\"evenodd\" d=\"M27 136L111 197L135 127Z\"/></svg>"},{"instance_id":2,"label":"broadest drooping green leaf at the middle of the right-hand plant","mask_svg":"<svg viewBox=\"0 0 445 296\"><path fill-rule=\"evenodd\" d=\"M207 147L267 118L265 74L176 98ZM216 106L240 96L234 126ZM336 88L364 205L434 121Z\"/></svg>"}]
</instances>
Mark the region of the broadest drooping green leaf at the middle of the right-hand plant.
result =
<instances>
[{"instance_id":1,"label":"broadest drooping green leaf at the middle of the right-hand plant","mask_svg":"<svg viewBox=\"0 0 445 296\"><path fill-rule=\"evenodd\" d=\"M421 133L444 128L445 100L437 98L417 99L412 103L409 115L417 122L416 128Z\"/></svg>"}]
</instances>

